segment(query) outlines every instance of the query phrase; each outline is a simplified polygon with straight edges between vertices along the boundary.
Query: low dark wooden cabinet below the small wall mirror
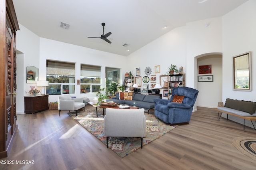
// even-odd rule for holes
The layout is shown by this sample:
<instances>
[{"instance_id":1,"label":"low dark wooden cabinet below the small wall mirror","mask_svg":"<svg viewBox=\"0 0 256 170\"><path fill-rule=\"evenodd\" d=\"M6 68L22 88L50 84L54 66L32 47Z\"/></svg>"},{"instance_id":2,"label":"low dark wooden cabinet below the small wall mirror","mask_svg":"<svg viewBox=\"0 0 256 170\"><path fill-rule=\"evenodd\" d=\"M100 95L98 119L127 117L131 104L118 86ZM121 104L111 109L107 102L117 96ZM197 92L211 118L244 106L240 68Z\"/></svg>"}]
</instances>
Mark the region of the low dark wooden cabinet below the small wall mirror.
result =
<instances>
[{"instance_id":1,"label":"low dark wooden cabinet below the small wall mirror","mask_svg":"<svg viewBox=\"0 0 256 170\"><path fill-rule=\"evenodd\" d=\"M48 95L25 96L24 97L25 111L24 113L36 113L49 109Z\"/></svg>"}]
</instances>

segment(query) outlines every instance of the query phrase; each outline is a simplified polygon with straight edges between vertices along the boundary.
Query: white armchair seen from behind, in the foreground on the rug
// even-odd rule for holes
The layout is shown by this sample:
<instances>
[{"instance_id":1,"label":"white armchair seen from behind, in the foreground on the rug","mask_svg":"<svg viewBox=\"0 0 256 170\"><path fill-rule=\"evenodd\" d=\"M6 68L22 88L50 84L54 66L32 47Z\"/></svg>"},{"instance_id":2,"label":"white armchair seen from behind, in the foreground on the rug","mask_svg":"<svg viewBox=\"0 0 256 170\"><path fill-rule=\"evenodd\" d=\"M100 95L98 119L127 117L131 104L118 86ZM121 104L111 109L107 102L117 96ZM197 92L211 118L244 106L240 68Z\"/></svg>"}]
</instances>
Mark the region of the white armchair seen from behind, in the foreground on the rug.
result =
<instances>
[{"instance_id":1,"label":"white armchair seen from behind, in the foreground on the rug","mask_svg":"<svg viewBox=\"0 0 256 170\"><path fill-rule=\"evenodd\" d=\"M104 117L104 135L109 137L138 137L146 136L146 117L144 109L112 109L106 108Z\"/></svg>"}]
</instances>

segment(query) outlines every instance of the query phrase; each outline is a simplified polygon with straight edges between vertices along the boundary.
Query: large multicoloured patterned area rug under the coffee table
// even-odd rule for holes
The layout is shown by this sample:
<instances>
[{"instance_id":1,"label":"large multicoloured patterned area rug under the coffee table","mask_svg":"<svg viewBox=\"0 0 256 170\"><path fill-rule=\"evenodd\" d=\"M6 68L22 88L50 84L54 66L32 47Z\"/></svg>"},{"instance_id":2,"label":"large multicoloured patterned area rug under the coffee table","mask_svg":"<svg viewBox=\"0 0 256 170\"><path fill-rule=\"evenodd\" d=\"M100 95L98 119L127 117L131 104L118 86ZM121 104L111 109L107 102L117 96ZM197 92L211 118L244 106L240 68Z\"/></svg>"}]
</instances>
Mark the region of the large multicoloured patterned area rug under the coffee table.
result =
<instances>
[{"instance_id":1,"label":"large multicoloured patterned area rug under the coffee table","mask_svg":"<svg viewBox=\"0 0 256 170\"><path fill-rule=\"evenodd\" d=\"M106 144L106 136L104 136L104 116L102 109L98 108L98 117L96 117L96 108L91 105L85 107L85 111L80 110L76 116L76 112L68 113L82 127L88 130L96 138ZM143 138L143 146L159 138L160 136L170 132L177 126L170 126L159 119L154 114L145 113L146 116L146 137ZM109 138L108 147L113 150L121 158L138 150L141 145L140 138Z\"/></svg>"}]
</instances>

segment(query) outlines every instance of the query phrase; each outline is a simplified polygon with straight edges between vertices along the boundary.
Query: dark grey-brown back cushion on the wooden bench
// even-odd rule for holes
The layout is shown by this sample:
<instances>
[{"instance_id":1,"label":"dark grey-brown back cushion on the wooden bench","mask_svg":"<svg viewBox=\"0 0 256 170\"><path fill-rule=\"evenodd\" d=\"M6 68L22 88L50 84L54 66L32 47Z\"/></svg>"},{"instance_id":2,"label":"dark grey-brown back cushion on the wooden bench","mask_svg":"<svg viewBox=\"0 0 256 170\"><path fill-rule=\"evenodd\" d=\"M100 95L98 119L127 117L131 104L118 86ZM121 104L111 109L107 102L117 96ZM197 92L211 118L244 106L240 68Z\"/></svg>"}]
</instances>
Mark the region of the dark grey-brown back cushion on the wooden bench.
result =
<instances>
[{"instance_id":1,"label":"dark grey-brown back cushion on the wooden bench","mask_svg":"<svg viewBox=\"0 0 256 170\"><path fill-rule=\"evenodd\" d=\"M251 115L256 111L256 103L252 101L226 99L225 107L247 112Z\"/></svg>"}]
</instances>

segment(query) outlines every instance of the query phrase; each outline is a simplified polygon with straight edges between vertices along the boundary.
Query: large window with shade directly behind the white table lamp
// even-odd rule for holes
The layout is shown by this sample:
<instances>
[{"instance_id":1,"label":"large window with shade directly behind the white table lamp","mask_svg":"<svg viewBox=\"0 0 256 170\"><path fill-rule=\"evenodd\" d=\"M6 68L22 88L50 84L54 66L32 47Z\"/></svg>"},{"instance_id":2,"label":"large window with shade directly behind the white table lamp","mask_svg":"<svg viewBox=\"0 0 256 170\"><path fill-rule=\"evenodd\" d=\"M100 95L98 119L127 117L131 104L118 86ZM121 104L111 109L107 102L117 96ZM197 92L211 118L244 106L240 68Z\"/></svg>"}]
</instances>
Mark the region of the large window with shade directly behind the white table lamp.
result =
<instances>
[{"instance_id":1,"label":"large window with shade directly behind the white table lamp","mask_svg":"<svg viewBox=\"0 0 256 170\"><path fill-rule=\"evenodd\" d=\"M46 88L48 95L74 94L75 93L75 63L62 61L46 61Z\"/></svg>"}]
</instances>

